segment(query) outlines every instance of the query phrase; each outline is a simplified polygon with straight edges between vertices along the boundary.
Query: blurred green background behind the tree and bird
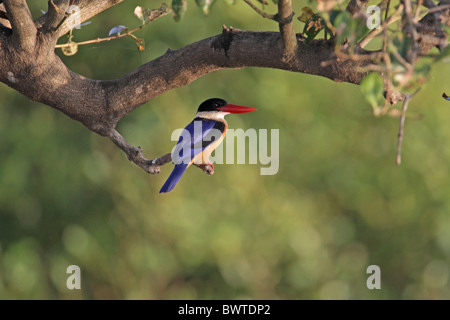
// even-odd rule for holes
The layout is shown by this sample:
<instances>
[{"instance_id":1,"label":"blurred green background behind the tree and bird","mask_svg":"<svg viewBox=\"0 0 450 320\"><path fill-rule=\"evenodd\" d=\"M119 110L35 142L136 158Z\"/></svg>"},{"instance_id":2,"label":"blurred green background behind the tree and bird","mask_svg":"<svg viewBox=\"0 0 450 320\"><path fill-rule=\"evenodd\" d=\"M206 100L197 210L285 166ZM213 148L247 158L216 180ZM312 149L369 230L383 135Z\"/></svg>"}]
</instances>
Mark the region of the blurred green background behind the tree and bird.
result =
<instances>
[{"instance_id":1,"label":"blurred green background behind the tree and bird","mask_svg":"<svg viewBox=\"0 0 450 320\"><path fill-rule=\"evenodd\" d=\"M35 17L47 1L28 1ZM74 71L113 79L221 32L277 30L244 3L209 16L189 0L181 22L161 18L131 38L63 57ZM126 1L75 31L75 41L137 26ZM306 1L295 1L294 10ZM267 7L275 11L274 5ZM296 21L296 30L303 24ZM65 41L60 39L60 42ZM189 169L169 194L160 175L62 113L0 86L2 299L449 299L450 64L434 66L412 100L403 163L398 118L375 118L358 86L280 70L223 70L143 105L118 130L148 158L169 152L174 129L200 102L222 97L258 111L230 128L279 129L279 172L261 164ZM81 268L68 290L66 268ZM381 290L366 269L381 268Z\"/></svg>"}]
</instances>

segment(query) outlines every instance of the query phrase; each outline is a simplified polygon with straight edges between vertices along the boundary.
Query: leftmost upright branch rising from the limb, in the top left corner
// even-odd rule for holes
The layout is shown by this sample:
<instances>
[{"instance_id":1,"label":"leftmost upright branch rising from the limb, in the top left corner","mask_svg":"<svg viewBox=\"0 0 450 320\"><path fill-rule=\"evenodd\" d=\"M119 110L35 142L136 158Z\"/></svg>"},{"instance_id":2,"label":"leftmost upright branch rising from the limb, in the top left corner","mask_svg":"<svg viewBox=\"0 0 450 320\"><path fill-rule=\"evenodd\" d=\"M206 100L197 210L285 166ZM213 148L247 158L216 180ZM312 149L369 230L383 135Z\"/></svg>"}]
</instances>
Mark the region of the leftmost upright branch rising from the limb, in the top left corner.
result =
<instances>
[{"instance_id":1,"label":"leftmost upright branch rising from the limb, in the top left corner","mask_svg":"<svg viewBox=\"0 0 450 320\"><path fill-rule=\"evenodd\" d=\"M12 45L31 51L36 43L37 29L25 0L4 0L6 13L12 26Z\"/></svg>"}]
</instances>

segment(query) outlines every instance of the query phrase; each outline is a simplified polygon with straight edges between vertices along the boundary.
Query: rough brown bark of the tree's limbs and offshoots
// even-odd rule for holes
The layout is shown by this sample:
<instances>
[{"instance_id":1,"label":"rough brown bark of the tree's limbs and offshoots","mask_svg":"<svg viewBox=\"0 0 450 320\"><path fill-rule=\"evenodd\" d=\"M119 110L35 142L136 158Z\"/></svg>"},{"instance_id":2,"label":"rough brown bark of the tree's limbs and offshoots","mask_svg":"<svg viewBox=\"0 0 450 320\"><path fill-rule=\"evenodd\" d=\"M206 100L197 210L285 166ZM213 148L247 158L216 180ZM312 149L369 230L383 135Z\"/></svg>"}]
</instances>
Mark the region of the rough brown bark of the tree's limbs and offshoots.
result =
<instances>
[{"instance_id":1,"label":"rough brown bark of the tree's limbs and offshoots","mask_svg":"<svg viewBox=\"0 0 450 320\"><path fill-rule=\"evenodd\" d=\"M81 22L123 0L76 0ZM129 159L147 172L159 172L170 154L154 160L129 145L115 130L117 122L143 103L173 88L185 86L207 73L224 68L264 67L319 75L333 81L358 84L362 67L375 63L371 52L360 49L354 57L336 55L331 40L309 45L295 34L290 0L280 0L273 15L280 32L253 32L224 28L221 34L200 40L161 57L115 80L92 80L72 72L55 54L59 37L69 31L65 12L69 0L49 1L48 12L33 21L25 0L0 4L0 81L27 96L82 122L93 132L109 137ZM73 1L72 1L73 2ZM367 1L352 0L352 14ZM438 20L449 24L450 10L428 14L423 32L438 35ZM444 35L446 37L446 35ZM422 40L423 53L436 43ZM325 64L324 64L325 62ZM202 169L211 173L210 168Z\"/></svg>"}]
</instances>

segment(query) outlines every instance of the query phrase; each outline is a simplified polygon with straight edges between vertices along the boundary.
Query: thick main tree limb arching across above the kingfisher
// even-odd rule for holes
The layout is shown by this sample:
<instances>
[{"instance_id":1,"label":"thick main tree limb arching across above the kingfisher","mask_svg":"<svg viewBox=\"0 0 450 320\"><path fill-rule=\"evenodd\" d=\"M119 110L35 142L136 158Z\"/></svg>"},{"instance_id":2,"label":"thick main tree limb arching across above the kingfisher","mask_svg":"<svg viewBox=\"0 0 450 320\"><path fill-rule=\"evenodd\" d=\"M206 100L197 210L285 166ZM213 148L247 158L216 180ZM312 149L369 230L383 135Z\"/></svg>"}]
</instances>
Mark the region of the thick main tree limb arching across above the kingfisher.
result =
<instances>
[{"instance_id":1,"label":"thick main tree limb arching across above the kingfisher","mask_svg":"<svg viewBox=\"0 0 450 320\"><path fill-rule=\"evenodd\" d=\"M371 62L337 59L334 47L324 40L300 43L296 52L299 58L294 62L283 59L283 49L278 32L224 29L220 35L168 50L116 80L87 79L70 71L55 54L46 52L45 57L17 53L17 62L0 59L0 81L105 136L122 117L143 103L216 70L265 67L357 84L366 74L360 69ZM361 57L367 54L364 50L360 53ZM323 61L329 61L328 65L322 66Z\"/></svg>"}]
</instances>

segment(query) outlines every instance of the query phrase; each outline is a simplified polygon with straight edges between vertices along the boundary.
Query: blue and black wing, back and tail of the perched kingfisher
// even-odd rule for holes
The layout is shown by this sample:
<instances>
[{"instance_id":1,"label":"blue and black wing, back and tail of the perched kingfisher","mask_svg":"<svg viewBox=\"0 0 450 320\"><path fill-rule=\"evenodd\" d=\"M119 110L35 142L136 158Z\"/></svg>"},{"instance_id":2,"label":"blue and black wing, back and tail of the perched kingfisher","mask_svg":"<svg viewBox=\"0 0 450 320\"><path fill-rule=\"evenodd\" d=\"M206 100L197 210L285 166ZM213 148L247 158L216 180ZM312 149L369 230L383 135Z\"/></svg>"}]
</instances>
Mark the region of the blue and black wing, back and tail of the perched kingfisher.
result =
<instances>
[{"instance_id":1,"label":"blue and black wing, back and tail of the perched kingfisher","mask_svg":"<svg viewBox=\"0 0 450 320\"><path fill-rule=\"evenodd\" d=\"M184 128L172 152L172 161L175 163L175 167L159 193L173 190L186 168L191 164L192 159L215 140L214 132L211 130L216 124L217 122L214 120L194 119Z\"/></svg>"}]
</instances>

